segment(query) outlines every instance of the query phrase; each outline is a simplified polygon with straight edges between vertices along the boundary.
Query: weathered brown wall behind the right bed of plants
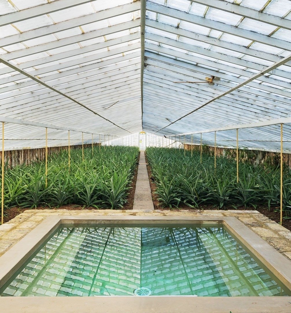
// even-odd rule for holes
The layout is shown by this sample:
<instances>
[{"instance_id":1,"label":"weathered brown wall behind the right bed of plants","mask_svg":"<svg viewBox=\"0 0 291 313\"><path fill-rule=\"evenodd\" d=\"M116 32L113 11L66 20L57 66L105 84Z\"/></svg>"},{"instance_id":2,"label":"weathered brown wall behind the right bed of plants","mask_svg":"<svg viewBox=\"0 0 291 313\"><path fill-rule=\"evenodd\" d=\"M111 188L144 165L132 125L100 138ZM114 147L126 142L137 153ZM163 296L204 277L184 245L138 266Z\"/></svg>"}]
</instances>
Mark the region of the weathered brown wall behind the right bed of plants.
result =
<instances>
[{"instance_id":1,"label":"weathered brown wall behind the right bed of plants","mask_svg":"<svg viewBox=\"0 0 291 313\"><path fill-rule=\"evenodd\" d=\"M186 150L191 150L191 145L185 144ZM193 145L193 151L200 152L199 145ZM212 146L202 146L202 152L209 155L214 155L214 147ZM280 164L280 153L269 152L269 151L258 151L258 150L246 150L239 149L239 161L249 162L252 164L265 163L268 165L277 166ZM216 148L216 156L225 156L228 158L236 158L236 149L230 148ZM291 168L291 154L283 153L283 162Z\"/></svg>"}]
</instances>

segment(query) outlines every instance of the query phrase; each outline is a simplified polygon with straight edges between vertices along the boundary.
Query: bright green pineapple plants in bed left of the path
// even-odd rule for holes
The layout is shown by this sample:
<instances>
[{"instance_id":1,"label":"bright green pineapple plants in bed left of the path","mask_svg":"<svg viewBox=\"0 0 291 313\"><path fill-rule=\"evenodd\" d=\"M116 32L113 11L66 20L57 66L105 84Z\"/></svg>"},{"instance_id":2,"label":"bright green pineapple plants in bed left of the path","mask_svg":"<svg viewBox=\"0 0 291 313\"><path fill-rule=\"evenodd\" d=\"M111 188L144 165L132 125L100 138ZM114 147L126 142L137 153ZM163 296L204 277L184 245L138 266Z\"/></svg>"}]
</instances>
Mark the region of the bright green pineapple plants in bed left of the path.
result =
<instances>
[{"instance_id":1,"label":"bright green pineapple plants in bed left of the path","mask_svg":"<svg viewBox=\"0 0 291 313\"><path fill-rule=\"evenodd\" d=\"M45 162L4 168L5 208L19 205L37 208L59 207L75 203L84 207L122 208L127 201L133 172L137 166L138 148L106 146L52 154L48 158L46 185ZM1 171L0 171L1 173ZM0 174L1 177L1 174Z\"/></svg>"}]
</instances>

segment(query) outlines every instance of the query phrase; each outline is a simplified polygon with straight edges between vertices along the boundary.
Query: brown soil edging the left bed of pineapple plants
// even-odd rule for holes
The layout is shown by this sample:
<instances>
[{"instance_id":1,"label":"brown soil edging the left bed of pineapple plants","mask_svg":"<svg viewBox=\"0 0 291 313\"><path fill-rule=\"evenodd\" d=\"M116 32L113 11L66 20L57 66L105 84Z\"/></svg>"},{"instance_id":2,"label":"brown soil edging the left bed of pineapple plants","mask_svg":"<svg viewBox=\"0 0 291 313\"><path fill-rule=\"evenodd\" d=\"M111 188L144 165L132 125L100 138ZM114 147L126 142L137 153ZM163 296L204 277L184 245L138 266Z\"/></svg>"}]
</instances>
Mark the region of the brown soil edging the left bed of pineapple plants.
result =
<instances>
[{"instance_id":1,"label":"brown soil edging the left bed of pineapple plants","mask_svg":"<svg viewBox=\"0 0 291 313\"><path fill-rule=\"evenodd\" d=\"M138 159L137 159L137 165L138 165L138 160L139 160L139 155L138 155ZM133 199L134 199L134 192L135 192L137 177L138 177L138 166L134 170L133 181L132 181L131 187L129 189L127 202L123 205L123 208L120 208L121 210L132 210L133 209ZM94 207L84 208L83 206L80 206L78 204L63 205L59 208L50 208L48 206L44 206L44 207L37 207L37 209L38 210L45 210L45 209L51 209L51 210L62 210L62 209L63 210L83 210L83 209L96 210L96 208L94 208ZM101 210L105 210L105 209L106 208L102 208ZM108 209L110 209L110 208L108 208ZM15 218L18 214L24 212L25 210L28 210L28 208L13 207L13 208L5 209L4 210L5 215L3 218L4 223L10 221L12 218Z\"/></svg>"}]
</instances>

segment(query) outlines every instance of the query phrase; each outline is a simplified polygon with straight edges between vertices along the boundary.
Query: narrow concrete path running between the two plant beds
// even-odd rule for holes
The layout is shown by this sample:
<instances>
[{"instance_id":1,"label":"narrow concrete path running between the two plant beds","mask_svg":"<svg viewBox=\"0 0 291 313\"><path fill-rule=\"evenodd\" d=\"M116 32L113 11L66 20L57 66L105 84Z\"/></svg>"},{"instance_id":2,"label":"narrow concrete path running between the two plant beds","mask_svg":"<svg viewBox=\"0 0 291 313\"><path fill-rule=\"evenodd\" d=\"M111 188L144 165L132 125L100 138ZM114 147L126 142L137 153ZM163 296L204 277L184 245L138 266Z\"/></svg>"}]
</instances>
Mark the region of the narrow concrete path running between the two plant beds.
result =
<instances>
[{"instance_id":1,"label":"narrow concrete path running between the two plant beds","mask_svg":"<svg viewBox=\"0 0 291 313\"><path fill-rule=\"evenodd\" d=\"M144 151L141 151L139 156L138 177L134 193L133 210L154 210Z\"/></svg>"}]
</instances>

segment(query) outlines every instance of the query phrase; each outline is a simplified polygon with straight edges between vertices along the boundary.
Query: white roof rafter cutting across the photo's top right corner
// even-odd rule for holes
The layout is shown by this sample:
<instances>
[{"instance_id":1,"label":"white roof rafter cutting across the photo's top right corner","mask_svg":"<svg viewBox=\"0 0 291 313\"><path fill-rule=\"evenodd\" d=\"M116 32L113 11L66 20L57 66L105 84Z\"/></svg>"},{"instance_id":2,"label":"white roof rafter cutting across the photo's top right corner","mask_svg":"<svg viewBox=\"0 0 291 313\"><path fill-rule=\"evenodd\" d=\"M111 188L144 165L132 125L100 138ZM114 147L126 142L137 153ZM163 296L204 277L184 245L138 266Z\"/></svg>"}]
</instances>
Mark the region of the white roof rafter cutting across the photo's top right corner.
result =
<instances>
[{"instance_id":1,"label":"white roof rafter cutting across the photo's top right corner","mask_svg":"<svg viewBox=\"0 0 291 313\"><path fill-rule=\"evenodd\" d=\"M237 14L245 18L251 18L260 22L272 24L291 30L290 20L281 18L276 15L263 13L251 8L243 7L236 3L230 3L223 0L188 0L190 2L200 3L211 8L219 9L229 13Z\"/></svg>"}]
</instances>

